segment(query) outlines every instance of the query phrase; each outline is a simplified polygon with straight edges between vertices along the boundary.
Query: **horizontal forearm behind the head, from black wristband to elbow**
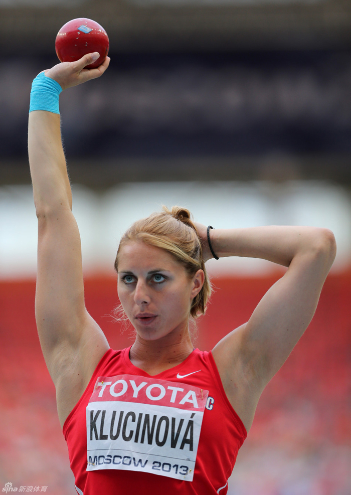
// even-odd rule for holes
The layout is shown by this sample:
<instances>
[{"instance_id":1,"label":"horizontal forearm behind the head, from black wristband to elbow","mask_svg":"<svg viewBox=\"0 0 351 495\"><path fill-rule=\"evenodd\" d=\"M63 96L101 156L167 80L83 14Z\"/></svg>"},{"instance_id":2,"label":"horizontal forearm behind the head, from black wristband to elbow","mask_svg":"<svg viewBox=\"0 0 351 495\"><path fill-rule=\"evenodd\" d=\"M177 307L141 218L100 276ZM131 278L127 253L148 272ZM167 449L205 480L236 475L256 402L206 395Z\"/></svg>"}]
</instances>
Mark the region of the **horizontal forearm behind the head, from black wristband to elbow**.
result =
<instances>
[{"instance_id":1,"label":"horizontal forearm behind the head, from black wristband to elbow","mask_svg":"<svg viewBox=\"0 0 351 495\"><path fill-rule=\"evenodd\" d=\"M335 243L327 229L316 227L265 226L211 230L217 256L261 258L289 266L294 257L323 253L333 259Z\"/></svg>"}]
</instances>

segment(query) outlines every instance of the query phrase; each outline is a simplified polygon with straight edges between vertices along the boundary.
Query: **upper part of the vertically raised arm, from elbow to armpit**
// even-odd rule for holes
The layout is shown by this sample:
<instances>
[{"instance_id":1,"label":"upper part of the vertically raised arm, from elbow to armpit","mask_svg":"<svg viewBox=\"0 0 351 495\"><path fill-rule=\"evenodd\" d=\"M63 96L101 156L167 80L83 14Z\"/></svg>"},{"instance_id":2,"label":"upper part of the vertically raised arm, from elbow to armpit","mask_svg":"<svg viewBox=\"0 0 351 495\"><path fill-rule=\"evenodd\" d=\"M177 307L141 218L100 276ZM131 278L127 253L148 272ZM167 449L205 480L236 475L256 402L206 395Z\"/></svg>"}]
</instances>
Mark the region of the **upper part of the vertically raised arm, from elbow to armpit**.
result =
<instances>
[{"instance_id":1,"label":"upper part of the vertically raised arm, from elbow to armpit","mask_svg":"<svg viewBox=\"0 0 351 495\"><path fill-rule=\"evenodd\" d=\"M36 319L44 358L55 375L55 354L89 352L89 334L107 342L84 303L81 243L72 212L62 208L39 216Z\"/></svg>"}]
</instances>

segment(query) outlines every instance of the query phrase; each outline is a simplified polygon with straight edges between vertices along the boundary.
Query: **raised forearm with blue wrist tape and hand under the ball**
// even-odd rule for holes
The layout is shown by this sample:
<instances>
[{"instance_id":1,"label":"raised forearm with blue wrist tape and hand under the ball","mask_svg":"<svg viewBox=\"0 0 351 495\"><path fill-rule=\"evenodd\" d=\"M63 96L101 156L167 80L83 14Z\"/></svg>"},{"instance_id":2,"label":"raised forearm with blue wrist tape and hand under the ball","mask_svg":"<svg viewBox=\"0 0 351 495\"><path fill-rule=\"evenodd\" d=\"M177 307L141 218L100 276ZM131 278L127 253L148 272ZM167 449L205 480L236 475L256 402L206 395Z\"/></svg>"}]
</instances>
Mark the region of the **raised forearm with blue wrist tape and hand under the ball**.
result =
<instances>
[{"instance_id":1,"label":"raised forearm with blue wrist tape and hand under the ball","mask_svg":"<svg viewBox=\"0 0 351 495\"><path fill-rule=\"evenodd\" d=\"M28 151L38 216L72 208L71 187L61 142L58 97L64 89L101 76L108 67L108 57L96 69L85 69L98 57L99 53L93 52L76 62L57 64L38 74L33 81Z\"/></svg>"}]
</instances>

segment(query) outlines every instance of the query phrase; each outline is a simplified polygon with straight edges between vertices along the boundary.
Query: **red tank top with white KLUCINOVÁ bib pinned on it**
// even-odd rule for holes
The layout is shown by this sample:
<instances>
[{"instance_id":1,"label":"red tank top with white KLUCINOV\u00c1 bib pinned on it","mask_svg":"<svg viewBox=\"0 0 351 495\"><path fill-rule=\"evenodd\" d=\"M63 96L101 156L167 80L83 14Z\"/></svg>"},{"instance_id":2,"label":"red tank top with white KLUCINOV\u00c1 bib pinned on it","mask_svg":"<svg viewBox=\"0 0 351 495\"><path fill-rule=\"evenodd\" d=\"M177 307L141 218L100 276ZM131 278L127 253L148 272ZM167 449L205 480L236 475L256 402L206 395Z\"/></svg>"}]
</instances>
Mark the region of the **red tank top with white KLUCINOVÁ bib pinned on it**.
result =
<instances>
[{"instance_id":1,"label":"red tank top with white KLUCINOV\u00c1 bib pinned on it","mask_svg":"<svg viewBox=\"0 0 351 495\"><path fill-rule=\"evenodd\" d=\"M150 376L109 349L63 426L82 495L228 491L247 433L212 353Z\"/></svg>"}]
</instances>

